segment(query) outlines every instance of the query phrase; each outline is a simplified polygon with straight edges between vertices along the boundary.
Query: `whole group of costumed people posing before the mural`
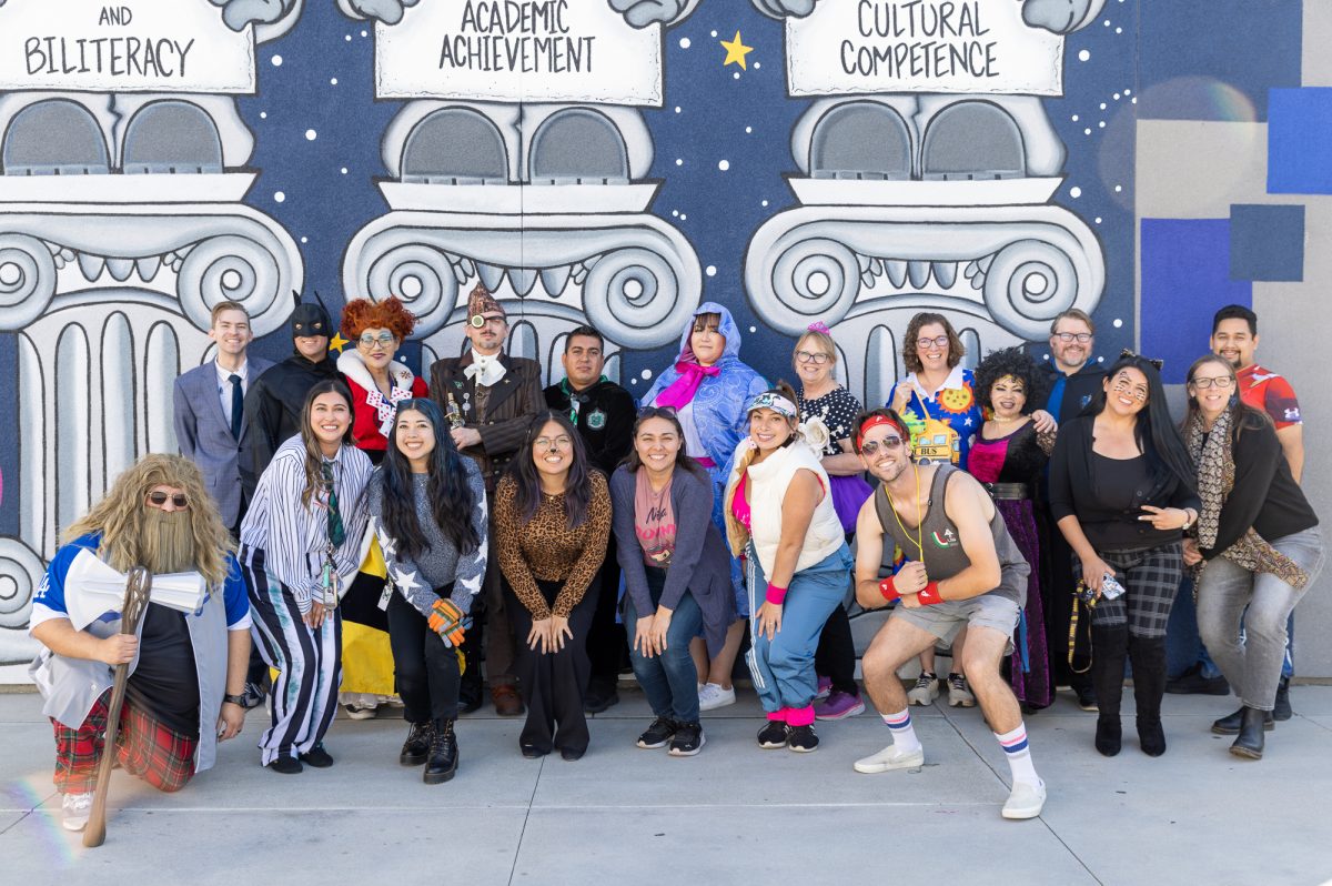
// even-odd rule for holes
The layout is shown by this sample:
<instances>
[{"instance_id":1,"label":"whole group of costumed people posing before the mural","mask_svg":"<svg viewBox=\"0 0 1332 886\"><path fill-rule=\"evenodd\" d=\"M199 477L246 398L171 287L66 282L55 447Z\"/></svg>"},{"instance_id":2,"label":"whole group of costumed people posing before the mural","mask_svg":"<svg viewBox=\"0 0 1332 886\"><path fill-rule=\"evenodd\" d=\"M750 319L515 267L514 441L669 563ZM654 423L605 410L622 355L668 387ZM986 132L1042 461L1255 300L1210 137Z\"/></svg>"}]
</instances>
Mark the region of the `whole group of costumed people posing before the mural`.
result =
<instances>
[{"instance_id":1,"label":"whole group of costumed people posing before the mural","mask_svg":"<svg viewBox=\"0 0 1332 886\"><path fill-rule=\"evenodd\" d=\"M1010 348L975 370L946 317L918 314L907 373L871 410L838 380L827 326L795 344L798 386L770 385L715 302L638 402L602 374L589 326L542 389L535 361L505 353L507 316L481 286L470 348L429 384L396 360L413 328L397 298L353 301L340 330L354 349L334 361L330 317L301 305L293 356L266 365L246 356L244 308L214 308L217 356L176 385L182 456L128 469L67 529L35 597L68 827L88 819L116 666L129 678L115 753L163 790L212 766L265 691L274 773L334 763L340 703L364 717L392 702L408 722L398 761L449 781L457 719L485 685L500 715L526 715L522 755L574 761L626 660L654 717L637 745L694 755L701 713L735 701L746 638L758 745L809 753L815 721L866 707L852 602L891 606L862 666L892 742L855 769L923 765L910 706L947 691L979 703L1004 750L1003 815L1031 818L1046 786L1023 717L1070 679L1060 632L1079 605L1092 657L1072 673L1090 674L1075 689L1098 710L1095 746L1120 750L1127 660L1142 750L1164 753L1166 621L1185 568L1243 702L1213 729L1261 755L1285 618L1323 544L1271 420L1231 396L1228 360L1189 369L1181 430L1152 361L1084 365L1091 318L1076 310L1051 329L1058 368ZM112 592L133 566L164 590L120 633Z\"/></svg>"}]
</instances>

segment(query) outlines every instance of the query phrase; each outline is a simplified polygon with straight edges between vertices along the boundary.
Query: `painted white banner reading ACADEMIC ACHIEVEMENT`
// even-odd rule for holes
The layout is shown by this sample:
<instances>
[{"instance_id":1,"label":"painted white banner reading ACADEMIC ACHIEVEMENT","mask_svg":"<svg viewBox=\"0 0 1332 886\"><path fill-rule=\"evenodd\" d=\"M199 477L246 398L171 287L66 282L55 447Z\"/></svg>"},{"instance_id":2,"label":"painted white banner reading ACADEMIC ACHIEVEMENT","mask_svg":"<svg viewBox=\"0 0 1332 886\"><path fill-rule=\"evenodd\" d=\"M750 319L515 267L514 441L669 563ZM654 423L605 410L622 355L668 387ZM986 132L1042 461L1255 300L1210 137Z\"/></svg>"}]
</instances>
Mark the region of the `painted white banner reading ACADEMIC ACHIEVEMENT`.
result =
<instances>
[{"instance_id":1,"label":"painted white banner reading ACADEMIC ACHIEVEMENT","mask_svg":"<svg viewBox=\"0 0 1332 886\"><path fill-rule=\"evenodd\" d=\"M662 104L661 25L606 0L446 0L374 28L380 99Z\"/></svg>"}]
</instances>

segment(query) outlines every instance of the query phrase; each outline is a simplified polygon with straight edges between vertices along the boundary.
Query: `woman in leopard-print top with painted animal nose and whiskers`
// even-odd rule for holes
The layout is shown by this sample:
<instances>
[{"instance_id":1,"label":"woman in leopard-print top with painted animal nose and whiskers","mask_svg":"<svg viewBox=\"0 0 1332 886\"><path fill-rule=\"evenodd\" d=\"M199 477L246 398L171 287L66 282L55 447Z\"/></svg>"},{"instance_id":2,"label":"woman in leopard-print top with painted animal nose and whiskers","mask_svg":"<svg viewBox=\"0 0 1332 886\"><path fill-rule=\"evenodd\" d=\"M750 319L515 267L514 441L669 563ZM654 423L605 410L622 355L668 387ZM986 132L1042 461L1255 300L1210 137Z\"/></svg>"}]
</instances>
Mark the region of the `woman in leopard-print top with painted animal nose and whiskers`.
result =
<instances>
[{"instance_id":1,"label":"woman in leopard-print top with painted animal nose and whiskers","mask_svg":"<svg viewBox=\"0 0 1332 886\"><path fill-rule=\"evenodd\" d=\"M522 755L558 747L565 759L587 750L583 689L587 629L606 538L610 490L589 469L582 438L567 416L539 413L496 488L496 544L518 649L527 722Z\"/></svg>"}]
</instances>

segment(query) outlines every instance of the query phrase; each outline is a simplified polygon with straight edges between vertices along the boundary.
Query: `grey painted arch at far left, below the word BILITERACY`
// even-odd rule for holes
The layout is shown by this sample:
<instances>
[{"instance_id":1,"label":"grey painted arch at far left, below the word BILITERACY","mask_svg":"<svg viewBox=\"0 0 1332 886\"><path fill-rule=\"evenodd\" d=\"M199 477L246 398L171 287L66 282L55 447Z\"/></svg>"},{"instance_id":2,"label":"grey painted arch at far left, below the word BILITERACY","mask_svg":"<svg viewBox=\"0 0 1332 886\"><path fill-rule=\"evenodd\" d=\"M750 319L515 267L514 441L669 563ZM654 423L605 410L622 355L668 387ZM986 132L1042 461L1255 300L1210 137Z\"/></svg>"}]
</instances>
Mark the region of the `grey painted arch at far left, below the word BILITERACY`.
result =
<instances>
[{"instance_id":1,"label":"grey painted arch at far left, below the word BILITERACY","mask_svg":"<svg viewBox=\"0 0 1332 886\"><path fill-rule=\"evenodd\" d=\"M107 175L111 160L92 112L68 99L45 99L9 121L0 168L7 176Z\"/></svg>"}]
</instances>

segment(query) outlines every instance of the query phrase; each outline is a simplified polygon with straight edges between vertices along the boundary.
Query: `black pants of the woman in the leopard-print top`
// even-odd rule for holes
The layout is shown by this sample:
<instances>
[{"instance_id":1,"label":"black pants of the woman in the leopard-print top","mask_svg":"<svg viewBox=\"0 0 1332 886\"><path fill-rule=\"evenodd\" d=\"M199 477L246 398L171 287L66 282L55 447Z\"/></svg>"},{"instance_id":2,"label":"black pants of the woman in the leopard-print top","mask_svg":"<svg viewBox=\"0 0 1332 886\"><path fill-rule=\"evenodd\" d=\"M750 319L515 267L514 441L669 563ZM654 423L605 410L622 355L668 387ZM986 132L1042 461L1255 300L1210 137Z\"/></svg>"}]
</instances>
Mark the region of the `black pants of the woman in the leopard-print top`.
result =
<instances>
[{"instance_id":1,"label":"black pants of the woman in the leopard-print top","mask_svg":"<svg viewBox=\"0 0 1332 886\"><path fill-rule=\"evenodd\" d=\"M537 588L554 605L563 582L537 581ZM518 743L533 747L538 753L551 749L583 751L587 750L587 717L583 714L583 689L587 686L587 630L591 626L597 594L601 592L598 580L583 598L569 613L569 629L573 640L557 653L541 653L527 646L531 632L531 613L505 582L505 596L509 602L509 620L517 638L518 686L522 701L527 705L527 722L522 725Z\"/></svg>"}]
</instances>

